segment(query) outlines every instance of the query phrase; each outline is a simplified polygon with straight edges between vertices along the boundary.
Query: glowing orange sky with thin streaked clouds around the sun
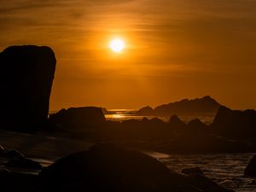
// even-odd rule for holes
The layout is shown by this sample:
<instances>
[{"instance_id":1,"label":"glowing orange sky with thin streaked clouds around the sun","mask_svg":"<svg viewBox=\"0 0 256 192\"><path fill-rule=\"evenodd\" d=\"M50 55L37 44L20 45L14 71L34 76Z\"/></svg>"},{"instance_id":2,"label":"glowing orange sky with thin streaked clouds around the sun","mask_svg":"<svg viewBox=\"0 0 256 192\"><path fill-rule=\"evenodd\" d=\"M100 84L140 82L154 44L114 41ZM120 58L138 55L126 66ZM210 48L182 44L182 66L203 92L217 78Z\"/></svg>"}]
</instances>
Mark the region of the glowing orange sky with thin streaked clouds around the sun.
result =
<instances>
[{"instance_id":1,"label":"glowing orange sky with thin streaked clouds around the sun","mask_svg":"<svg viewBox=\"0 0 256 192\"><path fill-rule=\"evenodd\" d=\"M256 108L256 0L2 0L0 49L49 45L51 110L210 95ZM123 38L120 55L108 48Z\"/></svg>"}]
</instances>

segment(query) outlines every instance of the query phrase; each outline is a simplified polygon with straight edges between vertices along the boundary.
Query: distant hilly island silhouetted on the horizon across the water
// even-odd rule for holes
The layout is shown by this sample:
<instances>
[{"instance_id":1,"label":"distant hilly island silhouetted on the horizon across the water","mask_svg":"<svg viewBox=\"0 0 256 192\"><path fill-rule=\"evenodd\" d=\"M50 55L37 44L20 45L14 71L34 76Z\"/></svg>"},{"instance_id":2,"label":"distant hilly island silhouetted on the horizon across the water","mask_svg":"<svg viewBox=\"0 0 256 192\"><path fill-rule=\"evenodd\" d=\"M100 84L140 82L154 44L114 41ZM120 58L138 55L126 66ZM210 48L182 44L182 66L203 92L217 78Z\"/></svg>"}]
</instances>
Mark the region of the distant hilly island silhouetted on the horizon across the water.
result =
<instances>
[{"instance_id":1,"label":"distant hilly island silhouetted on the horizon across the water","mask_svg":"<svg viewBox=\"0 0 256 192\"><path fill-rule=\"evenodd\" d=\"M149 106L137 111L137 115L143 116L171 116L176 115L206 115L216 114L221 106L211 96L204 96L195 99L183 99L178 102L160 105L156 108Z\"/></svg>"}]
</instances>

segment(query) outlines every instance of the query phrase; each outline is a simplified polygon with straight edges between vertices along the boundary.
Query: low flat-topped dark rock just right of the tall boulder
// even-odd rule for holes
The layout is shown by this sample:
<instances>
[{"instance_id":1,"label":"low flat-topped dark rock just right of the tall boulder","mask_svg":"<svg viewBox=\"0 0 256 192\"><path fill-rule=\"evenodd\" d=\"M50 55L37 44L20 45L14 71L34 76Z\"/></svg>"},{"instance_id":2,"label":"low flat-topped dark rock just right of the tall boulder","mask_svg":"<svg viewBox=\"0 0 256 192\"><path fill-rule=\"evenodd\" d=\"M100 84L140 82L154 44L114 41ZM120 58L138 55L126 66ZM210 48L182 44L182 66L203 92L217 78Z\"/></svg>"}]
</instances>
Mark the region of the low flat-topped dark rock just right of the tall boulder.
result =
<instances>
[{"instance_id":1,"label":"low flat-topped dark rock just right of the tall boulder","mask_svg":"<svg viewBox=\"0 0 256 192\"><path fill-rule=\"evenodd\" d=\"M102 108L84 107L61 109L49 116L49 123L66 130L83 130L101 126L106 119Z\"/></svg>"}]
</instances>

